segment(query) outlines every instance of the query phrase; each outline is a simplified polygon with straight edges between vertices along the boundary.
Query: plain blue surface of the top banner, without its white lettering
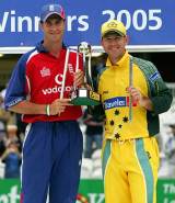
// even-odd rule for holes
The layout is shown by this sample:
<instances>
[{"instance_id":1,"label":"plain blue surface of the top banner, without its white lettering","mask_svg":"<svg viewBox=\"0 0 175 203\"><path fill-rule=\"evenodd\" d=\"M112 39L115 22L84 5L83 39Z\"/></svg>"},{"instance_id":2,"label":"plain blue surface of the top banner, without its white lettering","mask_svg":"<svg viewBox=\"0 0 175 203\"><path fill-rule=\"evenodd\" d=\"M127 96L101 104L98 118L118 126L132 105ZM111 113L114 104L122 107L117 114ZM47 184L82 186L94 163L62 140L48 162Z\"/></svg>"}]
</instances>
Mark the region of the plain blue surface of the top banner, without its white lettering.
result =
<instances>
[{"instance_id":1,"label":"plain blue surface of the top banner, without its white lettering","mask_svg":"<svg viewBox=\"0 0 175 203\"><path fill-rule=\"evenodd\" d=\"M174 0L0 0L0 26L4 12L15 10L18 16L38 16L40 7L45 3L56 2L63 5L67 16L89 15L89 30L78 31L79 23L73 24L72 31L66 31L65 42L67 45L77 46L85 41L92 45L101 43L101 24L108 20L108 15L103 15L104 10L112 10L116 14L120 10L128 10L132 16L138 9L148 13L152 9L161 9L162 27L156 31L149 31L148 25L143 31L137 31L133 24L128 29L130 36L129 45L174 45L175 44L175 1ZM124 23L126 19L124 18ZM141 23L141 21L140 21ZM5 32L0 32L0 47L34 46L42 38L42 32L21 33L10 31L10 19L7 22Z\"/></svg>"}]
</instances>

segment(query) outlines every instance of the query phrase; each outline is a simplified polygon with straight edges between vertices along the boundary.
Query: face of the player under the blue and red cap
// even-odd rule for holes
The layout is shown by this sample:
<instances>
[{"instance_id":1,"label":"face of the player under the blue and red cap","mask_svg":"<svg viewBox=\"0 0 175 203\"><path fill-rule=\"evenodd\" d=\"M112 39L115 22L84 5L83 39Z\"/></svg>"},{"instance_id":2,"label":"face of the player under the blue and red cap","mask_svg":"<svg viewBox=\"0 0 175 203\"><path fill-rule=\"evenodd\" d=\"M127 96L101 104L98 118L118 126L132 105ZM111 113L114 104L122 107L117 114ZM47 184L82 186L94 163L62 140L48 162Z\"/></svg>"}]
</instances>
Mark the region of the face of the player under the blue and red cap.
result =
<instances>
[{"instance_id":1,"label":"face of the player under the blue and red cap","mask_svg":"<svg viewBox=\"0 0 175 203\"><path fill-rule=\"evenodd\" d=\"M46 22L42 23L42 29L45 34L45 40L54 43L62 41L65 20L58 15L51 15Z\"/></svg>"}]
</instances>

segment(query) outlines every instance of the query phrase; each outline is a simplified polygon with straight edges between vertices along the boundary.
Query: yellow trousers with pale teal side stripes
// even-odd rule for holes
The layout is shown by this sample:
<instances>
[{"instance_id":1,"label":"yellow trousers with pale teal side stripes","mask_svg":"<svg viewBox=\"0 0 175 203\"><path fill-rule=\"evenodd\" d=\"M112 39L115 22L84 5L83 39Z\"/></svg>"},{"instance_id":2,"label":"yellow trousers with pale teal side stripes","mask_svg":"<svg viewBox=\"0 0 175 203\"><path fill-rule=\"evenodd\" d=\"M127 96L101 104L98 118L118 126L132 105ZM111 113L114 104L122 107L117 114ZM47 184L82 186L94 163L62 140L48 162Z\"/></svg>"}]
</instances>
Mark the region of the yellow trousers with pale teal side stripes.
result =
<instances>
[{"instance_id":1,"label":"yellow trousers with pale teal side stripes","mask_svg":"<svg viewBox=\"0 0 175 203\"><path fill-rule=\"evenodd\" d=\"M104 140L105 203L156 203L158 168L154 137Z\"/></svg>"}]
</instances>

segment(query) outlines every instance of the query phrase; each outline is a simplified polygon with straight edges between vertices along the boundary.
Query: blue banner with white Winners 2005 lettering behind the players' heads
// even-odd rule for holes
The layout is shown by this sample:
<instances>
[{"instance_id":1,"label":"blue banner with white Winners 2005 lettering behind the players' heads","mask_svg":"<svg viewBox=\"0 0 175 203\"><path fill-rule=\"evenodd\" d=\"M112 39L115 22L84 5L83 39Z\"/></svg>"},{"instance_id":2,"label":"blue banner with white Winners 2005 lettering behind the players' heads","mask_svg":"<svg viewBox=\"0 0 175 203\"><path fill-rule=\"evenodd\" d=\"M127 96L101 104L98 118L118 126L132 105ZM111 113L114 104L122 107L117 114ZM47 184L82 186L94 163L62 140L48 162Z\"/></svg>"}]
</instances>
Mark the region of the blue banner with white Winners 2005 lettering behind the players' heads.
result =
<instances>
[{"instance_id":1,"label":"blue banner with white Winners 2005 lettering behind the players' heads","mask_svg":"<svg viewBox=\"0 0 175 203\"><path fill-rule=\"evenodd\" d=\"M175 1L168 0L1 0L0 47L35 46L43 36L39 10L59 2L67 14L67 45L89 42L98 46L101 24L121 20L130 35L129 45L175 45Z\"/></svg>"}]
</instances>

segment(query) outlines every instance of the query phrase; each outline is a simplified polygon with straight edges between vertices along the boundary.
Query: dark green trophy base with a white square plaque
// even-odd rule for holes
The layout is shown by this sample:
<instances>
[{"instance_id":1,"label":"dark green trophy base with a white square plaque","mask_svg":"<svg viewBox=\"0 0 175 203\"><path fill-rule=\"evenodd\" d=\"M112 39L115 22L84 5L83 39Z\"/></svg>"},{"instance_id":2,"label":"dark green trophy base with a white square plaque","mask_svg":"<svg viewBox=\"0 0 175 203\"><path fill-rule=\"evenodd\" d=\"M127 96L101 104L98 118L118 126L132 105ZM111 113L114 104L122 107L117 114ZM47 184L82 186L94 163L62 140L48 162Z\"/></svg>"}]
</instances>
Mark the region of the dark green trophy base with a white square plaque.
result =
<instances>
[{"instance_id":1,"label":"dark green trophy base with a white square plaque","mask_svg":"<svg viewBox=\"0 0 175 203\"><path fill-rule=\"evenodd\" d=\"M72 92L71 103L74 105L98 105L101 103L101 97L92 90L80 88Z\"/></svg>"}]
</instances>

